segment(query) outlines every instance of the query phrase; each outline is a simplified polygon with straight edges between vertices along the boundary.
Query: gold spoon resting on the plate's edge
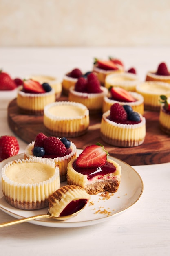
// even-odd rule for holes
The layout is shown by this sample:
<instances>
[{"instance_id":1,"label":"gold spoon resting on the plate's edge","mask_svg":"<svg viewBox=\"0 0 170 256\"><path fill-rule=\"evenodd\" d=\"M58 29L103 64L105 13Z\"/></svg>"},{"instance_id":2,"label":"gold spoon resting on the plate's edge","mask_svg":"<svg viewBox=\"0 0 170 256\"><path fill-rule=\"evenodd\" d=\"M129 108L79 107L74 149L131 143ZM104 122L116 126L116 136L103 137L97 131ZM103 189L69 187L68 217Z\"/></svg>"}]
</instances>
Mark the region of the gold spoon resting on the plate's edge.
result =
<instances>
[{"instance_id":1,"label":"gold spoon resting on the plate's edge","mask_svg":"<svg viewBox=\"0 0 170 256\"><path fill-rule=\"evenodd\" d=\"M18 220L12 220L12 221L9 221L9 222L4 222L4 223L0 224L0 227L7 227L7 226L15 225L15 224L20 224L20 223L23 223L23 222L26 222L26 221L29 221L29 220L35 220L35 219L40 219L40 218L50 218L50 219L57 220L57 221L67 220L69 218L73 218L74 216L76 216L80 211L82 211L84 209L85 206L86 206L86 204L79 211L76 211L75 213L72 213L72 214L66 215L66 216L53 217L49 213L39 214L39 215L31 216L31 217L18 219Z\"/></svg>"}]
</instances>

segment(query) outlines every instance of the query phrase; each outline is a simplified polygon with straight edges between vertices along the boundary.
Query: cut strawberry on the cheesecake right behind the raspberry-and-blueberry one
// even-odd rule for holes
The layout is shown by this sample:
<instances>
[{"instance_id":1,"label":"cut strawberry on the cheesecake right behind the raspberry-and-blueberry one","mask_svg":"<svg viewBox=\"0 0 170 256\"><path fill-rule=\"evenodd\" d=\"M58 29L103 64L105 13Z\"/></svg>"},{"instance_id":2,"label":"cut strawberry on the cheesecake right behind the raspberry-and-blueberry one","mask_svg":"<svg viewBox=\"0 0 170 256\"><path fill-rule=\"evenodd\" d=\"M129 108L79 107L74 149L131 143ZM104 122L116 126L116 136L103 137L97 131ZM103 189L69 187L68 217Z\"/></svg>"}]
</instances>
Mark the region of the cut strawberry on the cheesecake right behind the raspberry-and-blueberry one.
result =
<instances>
[{"instance_id":1,"label":"cut strawberry on the cheesecake right behind the raspberry-and-blueberry one","mask_svg":"<svg viewBox=\"0 0 170 256\"><path fill-rule=\"evenodd\" d=\"M121 87L111 87L110 93L112 98L116 101L123 101L123 102L134 102L136 99L126 90Z\"/></svg>"}]
</instances>

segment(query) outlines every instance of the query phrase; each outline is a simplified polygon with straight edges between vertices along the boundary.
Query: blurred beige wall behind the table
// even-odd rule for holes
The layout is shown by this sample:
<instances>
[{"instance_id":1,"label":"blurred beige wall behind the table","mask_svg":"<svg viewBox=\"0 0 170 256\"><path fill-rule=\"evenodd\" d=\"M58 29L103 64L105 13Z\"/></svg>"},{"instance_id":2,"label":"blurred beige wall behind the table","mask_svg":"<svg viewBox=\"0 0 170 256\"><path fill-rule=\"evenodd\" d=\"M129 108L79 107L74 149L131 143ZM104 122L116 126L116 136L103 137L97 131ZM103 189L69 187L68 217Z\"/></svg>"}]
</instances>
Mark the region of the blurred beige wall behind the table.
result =
<instances>
[{"instance_id":1,"label":"blurred beige wall behind the table","mask_svg":"<svg viewBox=\"0 0 170 256\"><path fill-rule=\"evenodd\" d=\"M0 47L170 46L170 0L0 0Z\"/></svg>"}]
</instances>

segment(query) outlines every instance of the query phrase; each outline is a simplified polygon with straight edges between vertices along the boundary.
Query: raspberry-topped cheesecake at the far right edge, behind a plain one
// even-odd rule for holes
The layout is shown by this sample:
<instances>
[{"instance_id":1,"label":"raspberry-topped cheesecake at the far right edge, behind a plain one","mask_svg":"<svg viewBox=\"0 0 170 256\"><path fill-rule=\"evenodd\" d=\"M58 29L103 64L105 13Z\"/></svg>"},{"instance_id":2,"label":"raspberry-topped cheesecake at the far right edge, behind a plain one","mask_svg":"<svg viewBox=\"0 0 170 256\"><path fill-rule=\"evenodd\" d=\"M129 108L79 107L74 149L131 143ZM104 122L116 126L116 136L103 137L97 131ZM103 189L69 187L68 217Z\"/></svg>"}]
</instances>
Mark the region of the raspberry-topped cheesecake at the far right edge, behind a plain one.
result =
<instances>
[{"instance_id":1,"label":"raspberry-topped cheesecake at the far right edge, behind a plain one","mask_svg":"<svg viewBox=\"0 0 170 256\"><path fill-rule=\"evenodd\" d=\"M157 81L163 83L170 83L170 71L165 62L161 62L157 70L148 71L146 74L146 81Z\"/></svg>"}]
</instances>

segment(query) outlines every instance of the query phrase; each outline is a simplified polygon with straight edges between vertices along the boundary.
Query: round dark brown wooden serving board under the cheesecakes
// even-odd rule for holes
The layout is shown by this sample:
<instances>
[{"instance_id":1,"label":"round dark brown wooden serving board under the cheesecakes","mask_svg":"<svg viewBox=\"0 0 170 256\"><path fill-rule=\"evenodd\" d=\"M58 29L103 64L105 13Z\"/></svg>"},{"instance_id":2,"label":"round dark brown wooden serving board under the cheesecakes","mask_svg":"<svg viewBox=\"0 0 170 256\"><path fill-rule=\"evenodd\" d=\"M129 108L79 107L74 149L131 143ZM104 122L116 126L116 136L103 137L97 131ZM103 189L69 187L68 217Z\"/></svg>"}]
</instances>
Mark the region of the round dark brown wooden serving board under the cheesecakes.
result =
<instances>
[{"instance_id":1,"label":"round dark brown wooden serving board under the cheesecakes","mask_svg":"<svg viewBox=\"0 0 170 256\"><path fill-rule=\"evenodd\" d=\"M61 97L60 101L67 100ZM85 148L100 142L109 152L110 156L117 157L129 165L162 164L170 162L170 136L159 128L159 112L144 112L146 117L146 137L142 145L132 148L119 148L106 144L100 137L100 122L102 114L90 116L90 126L85 135L68 138L77 146ZM47 136L42 116L21 115L18 112L16 99L8 106L8 123L11 130L23 141L30 143L35 140L38 133Z\"/></svg>"}]
</instances>

